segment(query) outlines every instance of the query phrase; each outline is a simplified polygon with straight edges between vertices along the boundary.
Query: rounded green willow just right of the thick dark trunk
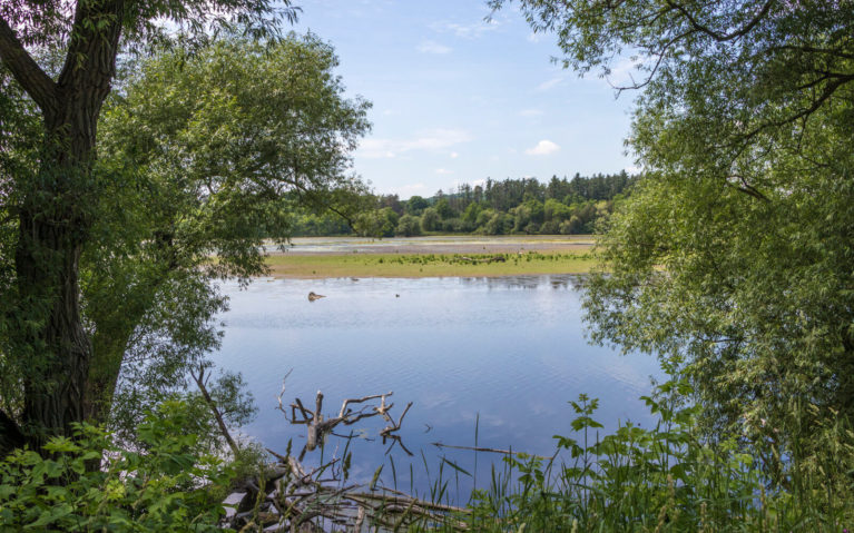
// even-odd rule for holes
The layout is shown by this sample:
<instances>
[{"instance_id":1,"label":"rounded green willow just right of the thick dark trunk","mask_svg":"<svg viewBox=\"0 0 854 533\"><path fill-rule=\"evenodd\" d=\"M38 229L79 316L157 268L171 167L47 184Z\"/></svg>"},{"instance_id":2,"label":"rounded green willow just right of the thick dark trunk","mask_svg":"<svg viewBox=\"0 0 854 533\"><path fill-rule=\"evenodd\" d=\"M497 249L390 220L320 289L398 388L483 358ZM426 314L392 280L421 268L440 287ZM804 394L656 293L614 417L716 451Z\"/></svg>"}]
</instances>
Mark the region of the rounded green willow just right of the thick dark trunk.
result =
<instances>
[{"instance_id":1,"label":"rounded green willow just right of the thick dark trunk","mask_svg":"<svg viewBox=\"0 0 854 533\"><path fill-rule=\"evenodd\" d=\"M81 259L87 418L107 421L117 385L114 414L139 416L205 364L226 304L209 280L265 274L295 206L353 218L364 186L350 154L370 103L344 98L336 66L315 36L224 36L137 62L107 102Z\"/></svg>"}]
</instances>

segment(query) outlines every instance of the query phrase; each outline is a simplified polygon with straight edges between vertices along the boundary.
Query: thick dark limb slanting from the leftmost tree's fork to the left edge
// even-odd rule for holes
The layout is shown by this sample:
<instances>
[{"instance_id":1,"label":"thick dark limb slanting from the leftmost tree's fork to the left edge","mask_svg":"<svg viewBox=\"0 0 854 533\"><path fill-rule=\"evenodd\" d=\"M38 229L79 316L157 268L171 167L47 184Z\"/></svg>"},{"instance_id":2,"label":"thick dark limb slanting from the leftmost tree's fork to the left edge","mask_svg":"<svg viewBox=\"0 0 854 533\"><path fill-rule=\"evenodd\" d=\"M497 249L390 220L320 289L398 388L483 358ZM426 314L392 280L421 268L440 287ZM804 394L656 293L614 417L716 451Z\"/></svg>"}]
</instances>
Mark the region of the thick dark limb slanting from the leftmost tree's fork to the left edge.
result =
<instances>
[{"instance_id":1,"label":"thick dark limb slanting from the leftmost tree's fork to the left edge","mask_svg":"<svg viewBox=\"0 0 854 533\"><path fill-rule=\"evenodd\" d=\"M57 107L57 85L21 45L9 23L0 17L0 60L42 111Z\"/></svg>"}]
</instances>

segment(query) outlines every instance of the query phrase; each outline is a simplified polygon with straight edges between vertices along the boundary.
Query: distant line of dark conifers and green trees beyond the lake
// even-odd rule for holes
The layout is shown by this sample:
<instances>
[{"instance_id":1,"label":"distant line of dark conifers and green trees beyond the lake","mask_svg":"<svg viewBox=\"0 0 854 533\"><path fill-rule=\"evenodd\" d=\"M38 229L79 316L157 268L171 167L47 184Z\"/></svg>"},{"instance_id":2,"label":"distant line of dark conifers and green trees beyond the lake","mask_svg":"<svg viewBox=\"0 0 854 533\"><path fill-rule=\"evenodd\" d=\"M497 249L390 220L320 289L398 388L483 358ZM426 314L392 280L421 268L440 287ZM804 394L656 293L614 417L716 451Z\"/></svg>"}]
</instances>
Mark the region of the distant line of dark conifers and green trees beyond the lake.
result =
<instances>
[{"instance_id":1,"label":"distant line of dark conifers and green trees beyond the lake","mask_svg":"<svg viewBox=\"0 0 854 533\"><path fill-rule=\"evenodd\" d=\"M332 213L301 213L294 235L589 234L628 195L635 180L626 171L590 177L576 174L572 179L552 176L548 184L536 178L487 179L484 185L463 184L431 198L373 196L352 224Z\"/></svg>"}]
</instances>

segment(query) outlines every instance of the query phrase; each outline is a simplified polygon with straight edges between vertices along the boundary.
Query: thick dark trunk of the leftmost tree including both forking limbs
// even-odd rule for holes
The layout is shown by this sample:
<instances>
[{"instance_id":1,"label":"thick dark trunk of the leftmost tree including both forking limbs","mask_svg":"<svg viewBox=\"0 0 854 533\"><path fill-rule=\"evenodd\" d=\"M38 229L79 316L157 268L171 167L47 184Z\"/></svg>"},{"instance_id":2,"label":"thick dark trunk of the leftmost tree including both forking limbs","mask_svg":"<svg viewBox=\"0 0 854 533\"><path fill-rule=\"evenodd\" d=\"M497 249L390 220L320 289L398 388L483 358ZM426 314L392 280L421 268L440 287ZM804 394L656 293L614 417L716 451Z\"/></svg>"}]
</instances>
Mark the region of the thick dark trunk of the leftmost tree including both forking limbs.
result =
<instances>
[{"instance_id":1,"label":"thick dark trunk of the leftmost tree including both forking limbs","mask_svg":"<svg viewBox=\"0 0 854 533\"><path fill-rule=\"evenodd\" d=\"M84 421L91 356L80 317L78 263L91 224L96 126L109 93L122 0L80 0L66 63L53 82L0 20L0 59L39 105L45 146L22 201L16 249L18 300L10 357L23 369L20 426L33 450ZM2 453L3 450L0 450Z\"/></svg>"}]
</instances>

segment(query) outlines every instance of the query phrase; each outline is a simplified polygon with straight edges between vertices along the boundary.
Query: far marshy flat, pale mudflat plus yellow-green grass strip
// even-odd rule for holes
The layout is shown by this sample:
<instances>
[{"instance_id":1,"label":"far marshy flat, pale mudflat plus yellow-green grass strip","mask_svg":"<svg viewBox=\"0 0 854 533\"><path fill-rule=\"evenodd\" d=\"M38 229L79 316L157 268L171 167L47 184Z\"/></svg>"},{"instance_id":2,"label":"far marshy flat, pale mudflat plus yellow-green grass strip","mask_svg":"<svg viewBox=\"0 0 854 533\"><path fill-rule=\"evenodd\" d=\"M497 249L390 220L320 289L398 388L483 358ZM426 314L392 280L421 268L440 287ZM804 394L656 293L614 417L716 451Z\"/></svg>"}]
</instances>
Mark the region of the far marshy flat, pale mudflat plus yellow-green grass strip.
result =
<instances>
[{"instance_id":1,"label":"far marshy flat, pale mudflat plus yellow-green grass strip","mask_svg":"<svg viewBox=\"0 0 854 533\"><path fill-rule=\"evenodd\" d=\"M492 277L586 274L595 238L579 236L431 236L294 238L269 250L279 278Z\"/></svg>"}]
</instances>

